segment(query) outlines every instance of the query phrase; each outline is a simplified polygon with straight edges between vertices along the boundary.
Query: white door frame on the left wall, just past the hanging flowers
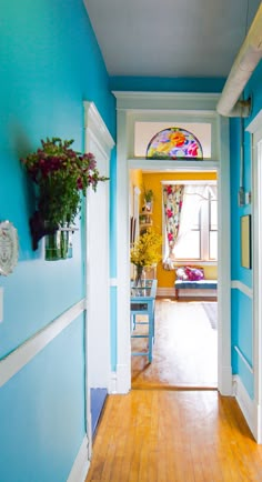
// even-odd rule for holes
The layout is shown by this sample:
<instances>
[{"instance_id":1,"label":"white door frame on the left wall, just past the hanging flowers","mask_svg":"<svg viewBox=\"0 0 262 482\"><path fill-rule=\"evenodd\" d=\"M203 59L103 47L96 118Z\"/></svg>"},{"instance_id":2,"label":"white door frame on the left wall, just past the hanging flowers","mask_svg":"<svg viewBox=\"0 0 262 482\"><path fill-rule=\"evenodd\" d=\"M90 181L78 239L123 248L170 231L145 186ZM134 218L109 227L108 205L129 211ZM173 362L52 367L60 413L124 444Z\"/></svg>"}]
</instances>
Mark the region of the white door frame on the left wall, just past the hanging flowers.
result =
<instances>
[{"instance_id":1,"label":"white door frame on the left wall, just past the hanging flowers","mask_svg":"<svg viewBox=\"0 0 262 482\"><path fill-rule=\"evenodd\" d=\"M114 145L102 118L93 102L84 102L84 151L92 152L95 157L99 173L109 177L109 161L111 149ZM102 250L98 252L98 243L92 237L90 225L91 207L95 212L95 195L101 193L102 213L97 212L97 218L103 215L101 229ZM97 198L98 200L98 198ZM105 212L104 212L105 210ZM108 212L107 212L108 210ZM87 432L89 439L89 458L92 451L92 428L91 428L91 401L90 389L103 388L111 391L111 339L110 339L110 274L109 274L109 184L98 184L98 192L91 188L87 191L85 201L85 416ZM98 222L95 222L98 227ZM101 257L102 262L99 261ZM97 265L99 264L99 269ZM98 272L99 271L99 272ZM102 337L101 337L102 334ZM98 357L98 353L100 355Z\"/></svg>"}]
</instances>

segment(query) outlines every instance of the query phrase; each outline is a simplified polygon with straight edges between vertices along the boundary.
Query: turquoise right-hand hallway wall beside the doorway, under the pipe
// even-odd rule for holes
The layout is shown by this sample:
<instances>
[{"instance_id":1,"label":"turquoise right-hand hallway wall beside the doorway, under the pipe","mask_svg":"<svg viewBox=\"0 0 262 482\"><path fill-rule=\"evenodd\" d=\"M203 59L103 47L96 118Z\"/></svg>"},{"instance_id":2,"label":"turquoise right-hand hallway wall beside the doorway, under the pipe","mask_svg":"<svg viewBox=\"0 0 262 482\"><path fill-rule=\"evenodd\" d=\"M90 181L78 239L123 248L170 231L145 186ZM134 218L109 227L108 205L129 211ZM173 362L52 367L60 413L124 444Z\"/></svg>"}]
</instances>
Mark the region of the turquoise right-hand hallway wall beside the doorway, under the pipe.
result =
<instances>
[{"instance_id":1,"label":"turquoise right-hand hallway wall beside the doorway, under the pipe","mask_svg":"<svg viewBox=\"0 0 262 482\"><path fill-rule=\"evenodd\" d=\"M244 139L244 189L252 192L252 160L251 160L251 135L245 132L246 125L254 119L262 108L262 63L258 66L251 77L245 90L244 98L252 97L251 116L243 123ZM241 267L240 262L240 218L251 214L251 204L238 205L238 189L240 174L240 120L231 121L231 240L232 240L232 280L238 280L252 289L252 269ZM248 393L253 399L254 380L253 374L246 369L234 347L238 347L246 361L253 366L253 304L252 300L232 290L232 361L233 373L240 375Z\"/></svg>"}]
</instances>

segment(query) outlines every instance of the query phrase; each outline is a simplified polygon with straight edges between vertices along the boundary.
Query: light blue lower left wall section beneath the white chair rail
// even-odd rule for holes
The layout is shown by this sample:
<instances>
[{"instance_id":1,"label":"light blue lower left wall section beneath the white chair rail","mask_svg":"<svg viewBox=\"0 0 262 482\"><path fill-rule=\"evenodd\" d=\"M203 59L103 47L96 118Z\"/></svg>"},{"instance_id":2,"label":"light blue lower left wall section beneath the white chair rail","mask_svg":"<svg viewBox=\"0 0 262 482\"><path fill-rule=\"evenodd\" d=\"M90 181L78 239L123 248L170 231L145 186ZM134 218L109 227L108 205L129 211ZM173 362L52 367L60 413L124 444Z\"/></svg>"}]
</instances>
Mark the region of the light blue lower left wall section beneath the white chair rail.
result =
<instances>
[{"instance_id":1,"label":"light blue lower left wall section beneath the white chair rail","mask_svg":"<svg viewBox=\"0 0 262 482\"><path fill-rule=\"evenodd\" d=\"M82 334L80 317L1 389L1 482L66 482L84 436Z\"/></svg>"}]
</instances>

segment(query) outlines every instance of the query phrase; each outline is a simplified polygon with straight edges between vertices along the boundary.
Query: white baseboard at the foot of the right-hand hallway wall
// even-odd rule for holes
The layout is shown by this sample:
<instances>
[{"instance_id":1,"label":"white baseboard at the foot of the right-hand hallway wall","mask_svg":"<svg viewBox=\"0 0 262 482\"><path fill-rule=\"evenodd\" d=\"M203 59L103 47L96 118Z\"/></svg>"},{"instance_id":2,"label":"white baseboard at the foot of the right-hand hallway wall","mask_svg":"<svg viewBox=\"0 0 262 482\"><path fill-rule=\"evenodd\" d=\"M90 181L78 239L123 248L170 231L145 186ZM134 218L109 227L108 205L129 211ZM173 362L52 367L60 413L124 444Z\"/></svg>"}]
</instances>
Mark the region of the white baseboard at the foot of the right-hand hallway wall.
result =
<instances>
[{"instance_id":1,"label":"white baseboard at the foot of the right-hand hallway wall","mask_svg":"<svg viewBox=\"0 0 262 482\"><path fill-rule=\"evenodd\" d=\"M258 426L255 422L258 410L255 410L255 402L250 398L239 375L233 376L233 393L252 434L258 441Z\"/></svg>"}]
</instances>

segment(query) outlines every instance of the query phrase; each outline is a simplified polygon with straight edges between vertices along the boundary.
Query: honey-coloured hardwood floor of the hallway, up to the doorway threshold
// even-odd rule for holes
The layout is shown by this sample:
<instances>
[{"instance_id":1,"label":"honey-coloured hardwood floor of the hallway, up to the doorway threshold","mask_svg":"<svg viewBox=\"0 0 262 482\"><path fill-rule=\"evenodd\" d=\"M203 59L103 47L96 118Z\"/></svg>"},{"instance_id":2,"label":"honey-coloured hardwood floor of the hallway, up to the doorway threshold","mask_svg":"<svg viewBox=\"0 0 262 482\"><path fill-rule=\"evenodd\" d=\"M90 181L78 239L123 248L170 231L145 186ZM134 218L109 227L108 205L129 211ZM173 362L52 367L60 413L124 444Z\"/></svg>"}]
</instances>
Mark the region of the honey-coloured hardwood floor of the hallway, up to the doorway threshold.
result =
<instances>
[{"instance_id":1,"label":"honey-coloured hardwood floor of the hallway, up to the doorway threshold","mask_svg":"<svg viewBox=\"0 0 262 482\"><path fill-rule=\"evenodd\" d=\"M233 398L216 391L110 395L85 482L259 482L258 445Z\"/></svg>"}]
</instances>

